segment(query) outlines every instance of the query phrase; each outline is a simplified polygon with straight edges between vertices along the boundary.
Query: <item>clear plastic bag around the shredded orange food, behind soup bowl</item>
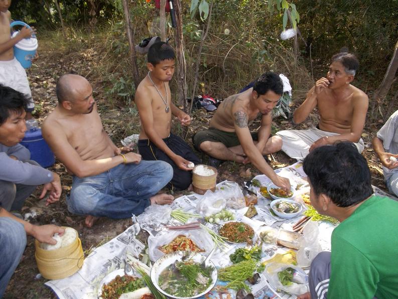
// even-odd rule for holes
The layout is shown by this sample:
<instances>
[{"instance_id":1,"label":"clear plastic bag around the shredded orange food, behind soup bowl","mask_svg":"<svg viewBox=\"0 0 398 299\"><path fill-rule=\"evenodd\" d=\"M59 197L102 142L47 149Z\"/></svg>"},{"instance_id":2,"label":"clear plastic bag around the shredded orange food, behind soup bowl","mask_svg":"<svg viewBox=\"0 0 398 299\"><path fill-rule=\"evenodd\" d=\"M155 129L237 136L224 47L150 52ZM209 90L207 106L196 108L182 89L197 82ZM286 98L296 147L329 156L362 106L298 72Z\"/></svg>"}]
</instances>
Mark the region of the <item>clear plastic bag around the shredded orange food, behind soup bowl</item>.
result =
<instances>
[{"instance_id":1,"label":"clear plastic bag around the shredded orange food, behind soup bowl","mask_svg":"<svg viewBox=\"0 0 398 299\"><path fill-rule=\"evenodd\" d=\"M176 231L162 231L156 236L150 236L148 238L149 257L152 261L156 261L158 258L165 255L159 248L163 245L169 244L179 235L191 239L200 249L204 252L200 252L203 255L208 255L214 248L214 242L211 239L210 234L203 228L191 229L191 230L176 230Z\"/></svg>"}]
</instances>

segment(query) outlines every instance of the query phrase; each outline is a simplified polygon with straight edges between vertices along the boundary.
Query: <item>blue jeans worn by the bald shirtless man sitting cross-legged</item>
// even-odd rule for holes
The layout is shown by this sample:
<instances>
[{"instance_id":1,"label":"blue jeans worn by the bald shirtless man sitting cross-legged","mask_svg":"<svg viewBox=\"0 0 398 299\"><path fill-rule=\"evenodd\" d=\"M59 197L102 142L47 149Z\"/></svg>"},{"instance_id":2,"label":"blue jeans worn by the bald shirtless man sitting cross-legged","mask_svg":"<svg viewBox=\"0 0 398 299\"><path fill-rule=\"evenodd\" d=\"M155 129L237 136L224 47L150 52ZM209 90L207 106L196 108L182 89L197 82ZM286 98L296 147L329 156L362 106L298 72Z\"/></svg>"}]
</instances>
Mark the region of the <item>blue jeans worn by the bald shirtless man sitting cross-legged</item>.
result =
<instances>
[{"instance_id":1,"label":"blue jeans worn by the bald shirtless man sitting cross-legged","mask_svg":"<svg viewBox=\"0 0 398 299\"><path fill-rule=\"evenodd\" d=\"M173 177L173 168L163 161L120 164L102 174L73 178L67 198L73 214L128 218L139 215L150 205L150 197Z\"/></svg>"}]
</instances>

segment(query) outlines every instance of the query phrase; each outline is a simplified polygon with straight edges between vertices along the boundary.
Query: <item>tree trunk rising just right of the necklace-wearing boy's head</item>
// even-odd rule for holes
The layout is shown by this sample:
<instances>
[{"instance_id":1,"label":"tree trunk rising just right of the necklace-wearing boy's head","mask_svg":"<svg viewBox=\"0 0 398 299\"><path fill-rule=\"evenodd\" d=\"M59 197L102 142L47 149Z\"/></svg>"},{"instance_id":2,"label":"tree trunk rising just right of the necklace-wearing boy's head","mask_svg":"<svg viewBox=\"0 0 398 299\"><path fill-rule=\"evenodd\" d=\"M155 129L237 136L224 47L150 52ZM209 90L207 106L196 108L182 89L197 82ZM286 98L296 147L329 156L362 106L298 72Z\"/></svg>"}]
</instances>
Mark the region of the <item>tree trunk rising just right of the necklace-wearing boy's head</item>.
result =
<instances>
[{"instance_id":1,"label":"tree trunk rising just right of the necklace-wearing boy's head","mask_svg":"<svg viewBox=\"0 0 398 299\"><path fill-rule=\"evenodd\" d=\"M182 32L182 11L180 0L174 0L174 11L176 13L176 56L177 56L177 104L188 111L187 103L187 80L185 78L186 62L184 56L184 35Z\"/></svg>"}]
</instances>

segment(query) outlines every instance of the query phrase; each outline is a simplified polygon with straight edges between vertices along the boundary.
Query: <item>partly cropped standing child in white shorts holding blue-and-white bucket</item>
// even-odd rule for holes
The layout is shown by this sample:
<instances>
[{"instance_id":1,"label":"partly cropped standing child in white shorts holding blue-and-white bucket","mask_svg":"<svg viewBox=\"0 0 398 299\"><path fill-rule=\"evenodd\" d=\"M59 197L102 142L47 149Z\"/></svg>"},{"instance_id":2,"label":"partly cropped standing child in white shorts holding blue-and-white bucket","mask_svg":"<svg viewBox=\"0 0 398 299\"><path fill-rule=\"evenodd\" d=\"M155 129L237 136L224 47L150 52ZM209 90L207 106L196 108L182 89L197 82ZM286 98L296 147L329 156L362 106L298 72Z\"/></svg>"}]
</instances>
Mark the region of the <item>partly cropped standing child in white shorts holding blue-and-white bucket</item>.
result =
<instances>
[{"instance_id":1,"label":"partly cropped standing child in white shorts holding blue-and-white bucket","mask_svg":"<svg viewBox=\"0 0 398 299\"><path fill-rule=\"evenodd\" d=\"M14 46L25 38L30 38L36 33L34 27L23 27L20 32L11 38L10 22L11 13L8 10L11 0L0 0L0 83L22 92L29 100L26 119L32 118L35 103L32 99L28 77L25 69L14 57Z\"/></svg>"}]
</instances>

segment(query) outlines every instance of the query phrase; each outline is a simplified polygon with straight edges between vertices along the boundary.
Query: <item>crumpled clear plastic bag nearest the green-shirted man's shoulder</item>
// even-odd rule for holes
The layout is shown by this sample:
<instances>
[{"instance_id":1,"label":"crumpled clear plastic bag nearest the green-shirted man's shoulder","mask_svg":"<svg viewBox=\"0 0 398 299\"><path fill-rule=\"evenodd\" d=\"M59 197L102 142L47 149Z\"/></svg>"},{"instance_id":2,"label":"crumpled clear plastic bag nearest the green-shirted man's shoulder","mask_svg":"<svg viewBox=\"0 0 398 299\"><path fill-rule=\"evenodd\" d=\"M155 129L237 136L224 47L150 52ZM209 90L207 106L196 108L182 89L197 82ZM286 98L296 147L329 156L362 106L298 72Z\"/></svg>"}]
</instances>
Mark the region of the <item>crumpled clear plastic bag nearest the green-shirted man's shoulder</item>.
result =
<instances>
[{"instance_id":1,"label":"crumpled clear plastic bag nearest the green-shirted man's shoulder","mask_svg":"<svg viewBox=\"0 0 398 299\"><path fill-rule=\"evenodd\" d=\"M312 260L322 251L319 244L319 228L315 221L309 221L303 230L303 237L299 242L297 263L302 267L311 265Z\"/></svg>"}]
</instances>

